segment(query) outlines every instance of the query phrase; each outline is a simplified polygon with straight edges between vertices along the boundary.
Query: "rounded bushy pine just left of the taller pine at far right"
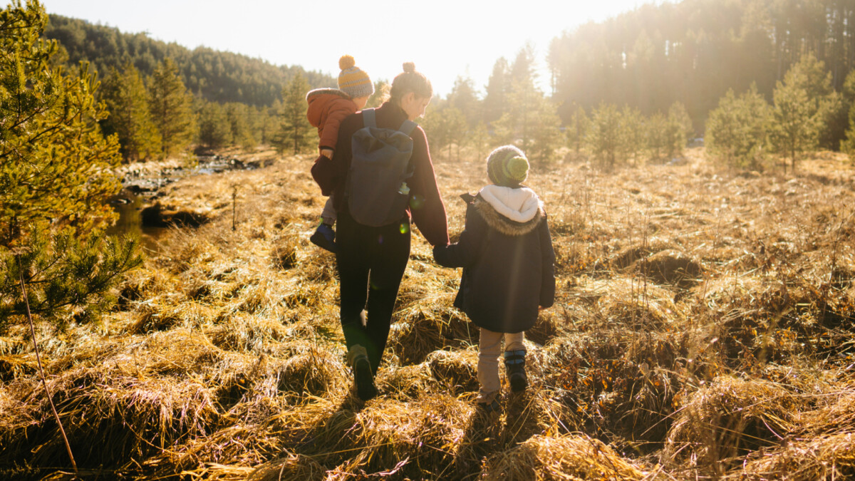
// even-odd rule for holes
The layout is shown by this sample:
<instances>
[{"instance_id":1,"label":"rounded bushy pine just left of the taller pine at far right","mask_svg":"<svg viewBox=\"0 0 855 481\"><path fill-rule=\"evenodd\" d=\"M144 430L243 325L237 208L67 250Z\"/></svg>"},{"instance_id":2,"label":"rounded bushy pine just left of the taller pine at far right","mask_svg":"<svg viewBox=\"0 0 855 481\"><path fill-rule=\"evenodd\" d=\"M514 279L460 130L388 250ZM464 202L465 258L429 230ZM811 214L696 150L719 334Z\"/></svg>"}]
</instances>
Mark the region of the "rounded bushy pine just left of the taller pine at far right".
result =
<instances>
[{"instance_id":1,"label":"rounded bushy pine just left of the taller pine at far right","mask_svg":"<svg viewBox=\"0 0 855 481\"><path fill-rule=\"evenodd\" d=\"M709 155L731 167L758 169L769 138L771 108L757 86L736 97L728 90L710 112L704 141Z\"/></svg>"}]
</instances>

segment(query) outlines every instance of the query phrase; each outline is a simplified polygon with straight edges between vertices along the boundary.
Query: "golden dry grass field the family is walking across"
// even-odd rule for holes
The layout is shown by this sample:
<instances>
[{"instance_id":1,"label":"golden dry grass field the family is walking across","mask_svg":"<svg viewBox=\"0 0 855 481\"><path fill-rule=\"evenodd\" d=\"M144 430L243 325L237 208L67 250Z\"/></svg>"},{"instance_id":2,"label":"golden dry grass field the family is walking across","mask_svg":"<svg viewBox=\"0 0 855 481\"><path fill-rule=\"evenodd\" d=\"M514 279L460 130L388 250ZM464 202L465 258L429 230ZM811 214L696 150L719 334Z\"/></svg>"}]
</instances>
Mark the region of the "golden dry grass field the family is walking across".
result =
<instances>
[{"instance_id":1,"label":"golden dry grass field the family is walking across","mask_svg":"<svg viewBox=\"0 0 855 481\"><path fill-rule=\"evenodd\" d=\"M421 235L363 403L334 258L308 241L325 200L311 158L192 177L159 201L209 222L162 237L102 323L41 326L48 386L87 478L853 479L844 158L786 176L700 149L535 169L557 301L527 333L530 388L504 384L492 416L475 409L477 330L451 306L460 273ZM453 240L457 195L486 175L436 171ZM0 335L0 478L70 478L30 342Z\"/></svg>"}]
</instances>

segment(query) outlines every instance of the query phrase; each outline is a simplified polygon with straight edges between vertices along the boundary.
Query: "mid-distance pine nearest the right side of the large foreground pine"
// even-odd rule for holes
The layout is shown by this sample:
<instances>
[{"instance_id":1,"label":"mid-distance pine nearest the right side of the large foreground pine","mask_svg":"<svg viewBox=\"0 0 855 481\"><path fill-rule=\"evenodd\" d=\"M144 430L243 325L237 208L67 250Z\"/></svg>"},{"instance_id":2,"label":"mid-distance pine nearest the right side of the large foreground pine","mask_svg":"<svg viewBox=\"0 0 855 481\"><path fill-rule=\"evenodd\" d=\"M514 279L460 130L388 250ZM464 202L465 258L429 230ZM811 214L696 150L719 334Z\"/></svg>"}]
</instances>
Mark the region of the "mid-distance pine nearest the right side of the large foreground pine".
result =
<instances>
[{"instance_id":1,"label":"mid-distance pine nearest the right side of the large foreground pine","mask_svg":"<svg viewBox=\"0 0 855 481\"><path fill-rule=\"evenodd\" d=\"M160 134L151 121L148 92L139 70L125 63L121 74L111 69L102 87L109 117L103 122L104 134L116 134L122 156L128 160L155 157L161 151Z\"/></svg>"}]
</instances>

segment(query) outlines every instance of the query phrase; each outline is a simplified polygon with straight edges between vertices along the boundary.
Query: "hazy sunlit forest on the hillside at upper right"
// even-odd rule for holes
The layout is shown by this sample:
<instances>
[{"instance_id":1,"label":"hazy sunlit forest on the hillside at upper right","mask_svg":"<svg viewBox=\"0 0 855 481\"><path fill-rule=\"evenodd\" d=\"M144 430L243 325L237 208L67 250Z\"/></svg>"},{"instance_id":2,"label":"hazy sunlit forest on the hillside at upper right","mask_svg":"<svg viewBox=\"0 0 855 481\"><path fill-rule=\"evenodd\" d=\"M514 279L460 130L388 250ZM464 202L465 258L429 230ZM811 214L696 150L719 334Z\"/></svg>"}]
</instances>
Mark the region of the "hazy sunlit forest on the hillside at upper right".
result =
<instances>
[{"instance_id":1,"label":"hazy sunlit forest on the hillside at upper right","mask_svg":"<svg viewBox=\"0 0 855 481\"><path fill-rule=\"evenodd\" d=\"M700 125L728 89L772 99L775 82L812 53L841 91L855 67L852 0L683 0L645 5L553 39L558 113L601 102L650 115L685 104Z\"/></svg>"}]
</instances>

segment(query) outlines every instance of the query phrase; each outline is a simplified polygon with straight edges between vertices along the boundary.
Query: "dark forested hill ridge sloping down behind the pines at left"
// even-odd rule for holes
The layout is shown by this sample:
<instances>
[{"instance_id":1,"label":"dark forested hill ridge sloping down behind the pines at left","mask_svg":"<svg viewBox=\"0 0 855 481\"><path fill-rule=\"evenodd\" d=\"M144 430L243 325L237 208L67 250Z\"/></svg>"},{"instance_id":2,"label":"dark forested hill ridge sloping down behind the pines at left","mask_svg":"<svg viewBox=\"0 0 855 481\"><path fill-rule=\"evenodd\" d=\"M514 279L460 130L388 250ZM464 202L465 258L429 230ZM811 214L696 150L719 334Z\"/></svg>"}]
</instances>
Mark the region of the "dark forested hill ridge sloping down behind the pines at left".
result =
<instances>
[{"instance_id":1,"label":"dark forested hill ridge sloping down behind the pines at left","mask_svg":"<svg viewBox=\"0 0 855 481\"><path fill-rule=\"evenodd\" d=\"M89 61L102 77L109 74L110 68L123 69L127 62L148 77L160 62L172 58L190 92L221 104L272 106L281 98L282 88L298 73L312 87L336 85L329 75L307 72L299 66L275 66L258 58L205 47L190 50L150 39L145 33L122 33L115 27L62 15L50 15L44 37L62 45L68 52L68 62Z\"/></svg>"}]
</instances>

